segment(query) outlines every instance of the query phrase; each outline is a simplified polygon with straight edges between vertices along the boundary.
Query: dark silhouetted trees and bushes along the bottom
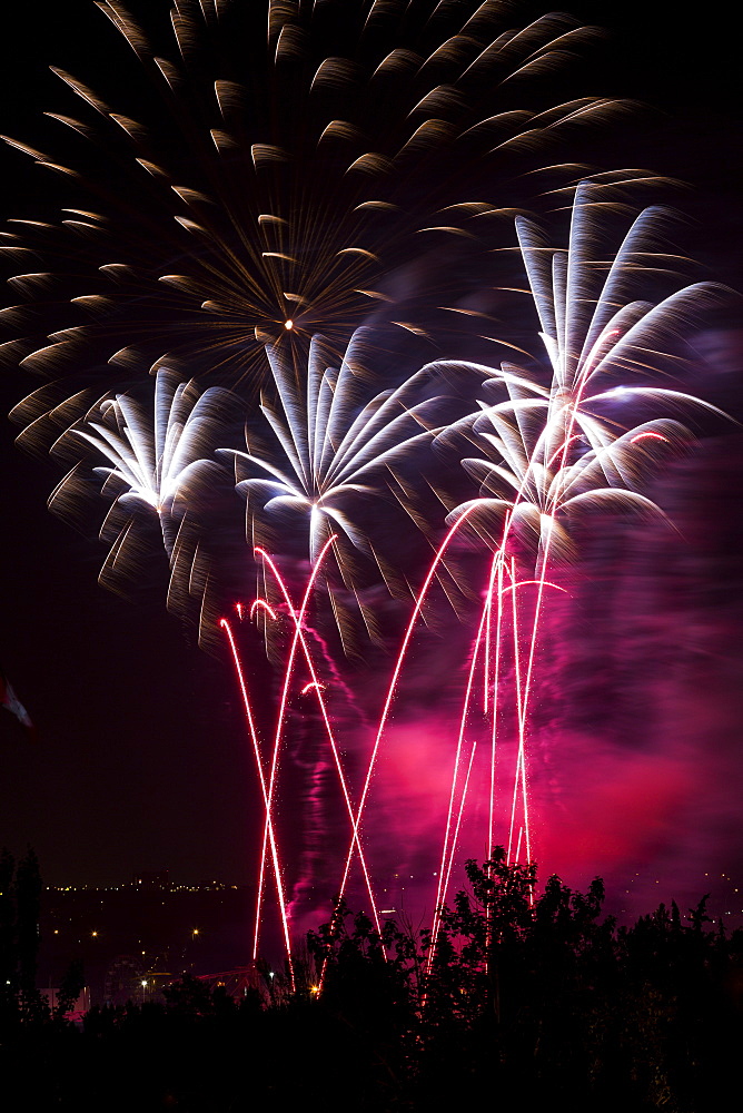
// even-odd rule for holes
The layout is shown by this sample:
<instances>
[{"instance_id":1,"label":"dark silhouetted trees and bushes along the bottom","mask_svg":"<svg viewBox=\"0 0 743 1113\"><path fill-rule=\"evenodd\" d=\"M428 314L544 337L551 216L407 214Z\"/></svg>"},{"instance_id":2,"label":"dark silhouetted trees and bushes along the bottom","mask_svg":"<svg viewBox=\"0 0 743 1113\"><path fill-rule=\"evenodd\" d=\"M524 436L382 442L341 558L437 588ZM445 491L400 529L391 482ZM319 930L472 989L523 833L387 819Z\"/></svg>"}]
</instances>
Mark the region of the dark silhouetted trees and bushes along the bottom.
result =
<instances>
[{"instance_id":1,"label":"dark silhouetted trees and bushes along the bottom","mask_svg":"<svg viewBox=\"0 0 743 1113\"><path fill-rule=\"evenodd\" d=\"M96 1007L76 1026L33 1006L36 859L0 856L0 1067L29 1107L83 1113L328 1109L341 1094L359 1111L483 1095L574 1113L722 1103L743 1036L743 932L713 925L705 900L617 927L601 880L539 889L501 849L467 879L435 939L394 922L377 933L340 904L297 956L294 992L260 964L239 998L185 975L162 1004Z\"/></svg>"}]
</instances>

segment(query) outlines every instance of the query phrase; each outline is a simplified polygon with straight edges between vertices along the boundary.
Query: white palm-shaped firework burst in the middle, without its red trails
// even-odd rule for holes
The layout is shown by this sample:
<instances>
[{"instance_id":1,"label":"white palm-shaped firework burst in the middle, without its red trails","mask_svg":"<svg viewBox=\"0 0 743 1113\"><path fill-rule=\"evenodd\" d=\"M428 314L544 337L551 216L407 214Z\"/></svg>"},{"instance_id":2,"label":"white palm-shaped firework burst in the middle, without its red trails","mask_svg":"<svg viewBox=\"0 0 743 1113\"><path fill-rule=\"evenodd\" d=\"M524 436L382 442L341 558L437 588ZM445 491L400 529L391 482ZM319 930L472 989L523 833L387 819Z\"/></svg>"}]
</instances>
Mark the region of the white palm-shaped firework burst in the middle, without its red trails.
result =
<instances>
[{"instance_id":1,"label":"white palm-shaped firework burst in the middle, without its red trails","mask_svg":"<svg viewBox=\"0 0 743 1113\"><path fill-rule=\"evenodd\" d=\"M429 470L433 463L427 446L468 406L482 374L491 373L428 364L369 398L374 339L368 328L357 329L339 368L329 364L331 353L319 336L310 343L306 371L290 353L269 347L275 390L260 406L267 429L249 422L248 452L220 453L235 459L238 476L248 475L238 477L236 485L247 501L254 544L274 551L288 544L314 564L335 533L337 575L327 572L324 582L346 649L354 642L344 600L357 604L375 636L374 614L361 590L369 574L380 574L393 594L400 593L400 578L377 540L389 535L389 522L395 523L397 546L406 522L424 536L434 535L414 498L407 496L406 470L422 485L426 461Z\"/></svg>"}]
</instances>

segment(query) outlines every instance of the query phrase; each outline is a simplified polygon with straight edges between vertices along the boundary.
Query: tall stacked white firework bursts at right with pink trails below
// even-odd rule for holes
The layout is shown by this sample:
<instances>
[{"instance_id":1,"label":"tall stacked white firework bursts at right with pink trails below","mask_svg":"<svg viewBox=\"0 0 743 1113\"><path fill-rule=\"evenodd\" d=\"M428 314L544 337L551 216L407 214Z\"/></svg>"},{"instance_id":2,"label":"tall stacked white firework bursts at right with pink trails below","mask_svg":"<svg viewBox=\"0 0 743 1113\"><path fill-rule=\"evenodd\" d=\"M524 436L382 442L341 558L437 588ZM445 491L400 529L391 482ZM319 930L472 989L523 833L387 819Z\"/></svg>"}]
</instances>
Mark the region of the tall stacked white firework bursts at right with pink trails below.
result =
<instances>
[{"instance_id":1,"label":"tall stacked white firework bursts at right with pink trails below","mask_svg":"<svg viewBox=\"0 0 743 1113\"><path fill-rule=\"evenodd\" d=\"M498 669L505 649L504 603L512 612L513 702L518 731L508 858L521 854L522 835L526 856L531 858L525 746L545 589L554 587L546 579L548 568L575 556L573 525L586 511L661 513L638 489L647 484L670 453L690 444L692 434L671 417L625 430L622 411L626 403L634 403L635 407L661 405L687 413L704 407L720 414L685 392L645 384L653 373L663 373L664 364L674 362L672 354L664 354L664 341L682 333L693 317L719 302L725 292L713 284L696 284L674 292L656 305L628 302L638 276L647 280L658 269L665 273L676 257L657 249L658 232L667 214L651 208L636 217L616 253L605 262L602 254L605 210L607 193L611 197L614 188L614 184L608 188L595 181L581 184L573 205L567 250L549 248L532 221L517 219L521 250L552 364L552 383L542 387L517 367L503 365L502 384L508 400L485 406L479 414L442 434L439 441L445 444L466 435L478 440L486 453L486 459L463 460L465 470L481 485L481 496L457 508L448 522L453 528L462 522L494 550L462 716L439 875L444 878L439 903L446 895L456 847L456 834L450 834L452 810L464 729L475 692L473 677L478 666L484 670L486 710L488 692L493 693L493 791ZM643 385L623 383L613 387L611 377L617 375L642 376ZM493 382L486 381L484 385L492 387ZM528 582L534 599L527 608L529 617L519 621L516 589L522 583L516 563L523 564L529 552L535 579ZM491 648L493 640L495 653ZM464 801L466 788L460 791ZM492 824L492 797L489 815ZM516 835L518 818L521 828ZM491 850L493 845L491 829Z\"/></svg>"}]
</instances>

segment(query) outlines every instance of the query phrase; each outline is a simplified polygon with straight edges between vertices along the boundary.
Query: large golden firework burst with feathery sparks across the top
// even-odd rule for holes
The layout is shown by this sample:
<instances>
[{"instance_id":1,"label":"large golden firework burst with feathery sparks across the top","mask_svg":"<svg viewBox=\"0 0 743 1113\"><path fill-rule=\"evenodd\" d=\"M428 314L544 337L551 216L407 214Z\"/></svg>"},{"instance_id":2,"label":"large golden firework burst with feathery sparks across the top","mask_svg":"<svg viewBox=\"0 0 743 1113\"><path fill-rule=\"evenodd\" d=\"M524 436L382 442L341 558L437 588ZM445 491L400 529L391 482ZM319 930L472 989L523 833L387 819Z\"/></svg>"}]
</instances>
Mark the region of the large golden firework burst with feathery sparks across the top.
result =
<instances>
[{"instance_id":1,"label":"large golden firework burst with feathery sparks across the top","mask_svg":"<svg viewBox=\"0 0 743 1113\"><path fill-rule=\"evenodd\" d=\"M6 238L36 265L11 278L27 301L6 311L23 336L7 354L80 385L164 353L187 375L260 382L265 343L306 349L320 331L341 348L369 318L456 331L483 316L465 286L482 285L508 176L612 110L522 107L595 35L566 16L515 30L472 0L181 0L169 31L148 31L97 7L136 56L133 93L55 68L70 108L47 114L46 149L8 140L80 201Z\"/></svg>"}]
</instances>

